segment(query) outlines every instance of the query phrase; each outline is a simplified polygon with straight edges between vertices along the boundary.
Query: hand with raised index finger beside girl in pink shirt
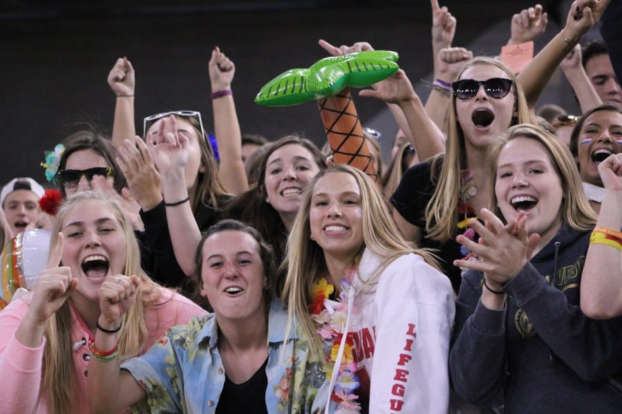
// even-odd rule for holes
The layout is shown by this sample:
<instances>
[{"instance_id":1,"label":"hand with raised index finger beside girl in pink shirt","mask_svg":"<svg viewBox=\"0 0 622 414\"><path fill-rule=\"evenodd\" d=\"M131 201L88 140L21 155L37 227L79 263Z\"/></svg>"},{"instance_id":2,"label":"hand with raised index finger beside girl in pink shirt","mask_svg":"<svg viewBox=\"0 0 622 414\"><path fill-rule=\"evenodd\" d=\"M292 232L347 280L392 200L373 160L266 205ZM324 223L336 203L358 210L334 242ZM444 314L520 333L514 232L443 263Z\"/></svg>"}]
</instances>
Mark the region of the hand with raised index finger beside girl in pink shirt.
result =
<instances>
[{"instance_id":1,"label":"hand with raised index finger beside girl in pink shirt","mask_svg":"<svg viewBox=\"0 0 622 414\"><path fill-rule=\"evenodd\" d=\"M57 242L50 252L46 270L41 272L39 283L32 294L30 309L21 321L15 336L23 345L37 348L41 345L48 319L65 303L77 286L71 269L60 266L64 236L58 233Z\"/></svg>"}]
</instances>

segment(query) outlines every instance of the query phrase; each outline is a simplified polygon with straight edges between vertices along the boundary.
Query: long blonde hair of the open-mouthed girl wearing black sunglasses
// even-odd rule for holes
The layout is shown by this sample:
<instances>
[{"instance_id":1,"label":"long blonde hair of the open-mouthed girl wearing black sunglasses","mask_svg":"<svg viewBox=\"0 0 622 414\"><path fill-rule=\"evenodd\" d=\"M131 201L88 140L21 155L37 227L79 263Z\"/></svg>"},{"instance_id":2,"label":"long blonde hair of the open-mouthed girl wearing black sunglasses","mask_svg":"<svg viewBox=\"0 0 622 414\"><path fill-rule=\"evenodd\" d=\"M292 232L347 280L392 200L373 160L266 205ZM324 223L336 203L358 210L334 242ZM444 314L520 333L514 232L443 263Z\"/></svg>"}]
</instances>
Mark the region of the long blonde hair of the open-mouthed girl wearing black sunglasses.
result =
<instances>
[{"instance_id":1,"label":"long blonde hair of the open-mouthed girl wearing black sunglasses","mask_svg":"<svg viewBox=\"0 0 622 414\"><path fill-rule=\"evenodd\" d=\"M496 66L505 72L508 79L513 82L512 91L515 99L515 108L518 119L512 119L511 125L531 123L529 107L525 100L525 93L513 75L503 63L489 57L475 57L458 74L460 79L464 71L476 65ZM466 148L464 146L464 133L458 123L455 110L455 96L452 97L451 111L449 112L449 131L447 133L446 151L433 159L432 180L437 183L434 194L426 207L426 233L428 237L438 242L447 242L456 235L458 214L456 207L460 197L460 171L466 166ZM509 126L511 126L509 125ZM508 128L509 128L508 126ZM440 175L436 175L437 163L442 162Z\"/></svg>"}]
</instances>

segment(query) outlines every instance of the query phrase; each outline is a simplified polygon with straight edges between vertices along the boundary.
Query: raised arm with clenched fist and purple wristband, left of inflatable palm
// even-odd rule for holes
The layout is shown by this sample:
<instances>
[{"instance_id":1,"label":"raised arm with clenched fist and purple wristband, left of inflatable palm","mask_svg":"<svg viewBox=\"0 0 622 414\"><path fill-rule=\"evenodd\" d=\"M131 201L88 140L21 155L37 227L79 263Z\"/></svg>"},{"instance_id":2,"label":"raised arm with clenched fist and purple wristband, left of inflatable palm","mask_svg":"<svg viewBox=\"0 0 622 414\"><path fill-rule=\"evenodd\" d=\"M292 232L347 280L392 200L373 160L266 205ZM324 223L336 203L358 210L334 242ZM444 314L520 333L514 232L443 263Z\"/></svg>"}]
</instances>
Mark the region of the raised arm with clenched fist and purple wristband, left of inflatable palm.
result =
<instances>
[{"instance_id":1,"label":"raised arm with clenched fist and purple wristband, left of inflatable palm","mask_svg":"<svg viewBox=\"0 0 622 414\"><path fill-rule=\"evenodd\" d=\"M225 188L229 193L238 195L248 189L248 181L242 161L242 133L231 93L235 72L234 63L216 46L209 59L209 81L214 110L214 135L220 155L218 168Z\"/></svg>"}]
</instances>

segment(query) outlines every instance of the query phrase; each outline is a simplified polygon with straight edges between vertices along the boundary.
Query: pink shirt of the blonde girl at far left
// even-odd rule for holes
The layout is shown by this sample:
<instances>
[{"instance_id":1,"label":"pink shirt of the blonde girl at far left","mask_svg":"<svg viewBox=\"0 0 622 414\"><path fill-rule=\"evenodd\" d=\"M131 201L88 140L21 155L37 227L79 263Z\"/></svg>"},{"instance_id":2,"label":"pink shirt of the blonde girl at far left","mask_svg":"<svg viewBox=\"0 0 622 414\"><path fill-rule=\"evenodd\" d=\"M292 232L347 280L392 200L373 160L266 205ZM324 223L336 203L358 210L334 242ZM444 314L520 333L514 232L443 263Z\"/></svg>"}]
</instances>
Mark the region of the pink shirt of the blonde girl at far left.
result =
<instances>
[{"instance_id":1,"label":"pink shirt of the blonde girl at far left","mask_svg":"<svg viewBox=\"0 0 622 414\"><path fill-rule=\"evenodd\" d=\"M146 311L149 339L144 351L162 337L171 326L187 324L194 316L207 315L200 306L186 297L164 288L160 288L162 297L156 306ZM0 312L0 373L3 377L0 386L0 401L3 413L50 413L46 406L46 398L39 398L41 388L42 366L46 339L38 348L23 346L15 337L15 331L21 319L28 313L32 293L11 302ZM77 378L77 413L91 413L86 399L86 373L88 359L88 330L72 312L73 364ZM44 393L45 394L45 393Z\"/></svg>"}]
</instances>

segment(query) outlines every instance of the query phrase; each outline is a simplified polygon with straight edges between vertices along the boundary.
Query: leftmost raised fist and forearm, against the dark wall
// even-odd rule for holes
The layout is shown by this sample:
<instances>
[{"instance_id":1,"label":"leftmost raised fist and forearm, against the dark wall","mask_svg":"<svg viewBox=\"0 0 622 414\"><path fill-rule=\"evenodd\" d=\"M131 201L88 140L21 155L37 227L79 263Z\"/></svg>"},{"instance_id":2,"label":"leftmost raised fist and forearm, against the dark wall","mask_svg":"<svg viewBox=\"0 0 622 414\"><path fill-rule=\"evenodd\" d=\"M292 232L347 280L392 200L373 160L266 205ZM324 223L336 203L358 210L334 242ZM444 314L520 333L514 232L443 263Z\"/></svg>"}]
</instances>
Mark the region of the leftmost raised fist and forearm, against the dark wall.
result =
<instances>
[{"instance_id":1,"label":"leftmost raised fist and forearm, against the dark wall","mask_svg":"<svg viewBox=\"0 0 622 414\"><path fill-rule=\"evenodd\" d=\"M124 139L131 139L136 135L134 124L135 73L126 57L117 59L115 66L108 74L108 84L117 96L112 143L119 148Z\"/></svg>"}]
</instances>

